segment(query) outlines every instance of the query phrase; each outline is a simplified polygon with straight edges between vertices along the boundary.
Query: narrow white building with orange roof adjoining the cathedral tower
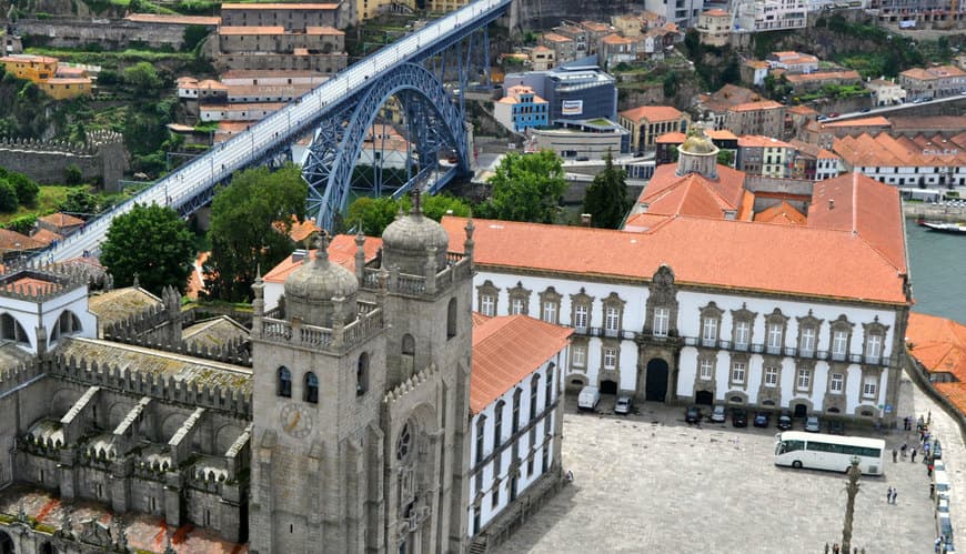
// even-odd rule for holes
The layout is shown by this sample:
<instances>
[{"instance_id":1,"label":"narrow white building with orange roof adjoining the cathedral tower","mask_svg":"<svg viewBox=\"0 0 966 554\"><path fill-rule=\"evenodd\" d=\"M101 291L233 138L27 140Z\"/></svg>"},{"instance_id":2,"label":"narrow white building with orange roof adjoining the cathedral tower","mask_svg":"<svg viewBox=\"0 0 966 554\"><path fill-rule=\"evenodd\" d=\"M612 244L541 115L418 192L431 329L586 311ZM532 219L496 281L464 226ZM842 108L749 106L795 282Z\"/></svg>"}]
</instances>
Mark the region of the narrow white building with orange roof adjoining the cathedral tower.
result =
<instances>
[{"instance_id":1,"label":"narrow white building with orange roof adjoining the cathedral tower","mask_svg":"<svg viewBox=\"0 0 966 554\"><path fill-rule=\"evenodd\" d=\"M471 537L542 476L560 472L560 394L571 333L523 315L474 324L466 518Z\"/></svg>"}]
</instances>

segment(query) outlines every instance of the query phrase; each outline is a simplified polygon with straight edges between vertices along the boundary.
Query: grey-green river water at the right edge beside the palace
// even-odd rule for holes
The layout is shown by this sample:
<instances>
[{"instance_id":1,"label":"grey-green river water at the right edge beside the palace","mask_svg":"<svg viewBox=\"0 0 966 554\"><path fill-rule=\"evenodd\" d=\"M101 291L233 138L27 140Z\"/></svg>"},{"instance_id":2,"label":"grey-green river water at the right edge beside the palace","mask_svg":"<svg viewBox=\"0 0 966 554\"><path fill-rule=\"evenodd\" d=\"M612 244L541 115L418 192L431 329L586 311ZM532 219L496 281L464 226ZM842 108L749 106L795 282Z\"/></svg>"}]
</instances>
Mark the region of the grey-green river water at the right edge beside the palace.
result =
<instances>
[{"instance_id":1,"label":"grey-green river water at the right edge beside the palace","mask_svg":"<svg viewBox=\"0 0 966 554\"><path fill-rule=\"evenodd\" d=\"M966 235L937 233L906 220L913 311L966 323Z\"/></svg>"}]
</instances>

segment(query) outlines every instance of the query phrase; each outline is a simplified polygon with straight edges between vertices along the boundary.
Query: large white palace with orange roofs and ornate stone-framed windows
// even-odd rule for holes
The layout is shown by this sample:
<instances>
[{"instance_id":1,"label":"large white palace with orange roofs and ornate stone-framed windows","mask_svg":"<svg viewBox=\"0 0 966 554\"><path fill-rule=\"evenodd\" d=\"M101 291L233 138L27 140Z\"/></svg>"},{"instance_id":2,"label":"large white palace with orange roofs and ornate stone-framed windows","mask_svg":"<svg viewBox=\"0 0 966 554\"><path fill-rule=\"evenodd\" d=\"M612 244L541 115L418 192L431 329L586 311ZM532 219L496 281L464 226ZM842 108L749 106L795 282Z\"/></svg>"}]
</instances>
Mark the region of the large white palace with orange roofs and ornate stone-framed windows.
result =
<instances>
[{"instance_id":1,"label":"large white palace with orange roofs and ornate stone-framed windows","mask_svg":"<svg viewBox=\"0 0 966 554\"><path fill-rule=\"evenodd\" d=\"M570 387L894 421L912 304L896 190L847 173L807 218L756 222L700 131L680 153L624 230L475 220L474 310L573 328ZM443 219L450 250L465 225Z\"/></svg>"}]
</instances>

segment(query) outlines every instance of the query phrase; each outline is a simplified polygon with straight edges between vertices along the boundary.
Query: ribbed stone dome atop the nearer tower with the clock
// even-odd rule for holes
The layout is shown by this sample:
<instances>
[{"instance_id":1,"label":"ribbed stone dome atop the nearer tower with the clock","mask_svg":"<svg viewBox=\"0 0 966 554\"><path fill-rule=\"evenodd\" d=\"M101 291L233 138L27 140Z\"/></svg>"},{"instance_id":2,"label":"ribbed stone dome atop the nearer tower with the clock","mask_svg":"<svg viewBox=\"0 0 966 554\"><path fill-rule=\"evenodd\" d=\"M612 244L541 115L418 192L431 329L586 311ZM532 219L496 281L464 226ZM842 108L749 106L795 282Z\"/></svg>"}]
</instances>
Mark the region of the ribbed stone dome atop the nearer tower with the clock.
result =
<instances>
[{"instance_id":1,"label":"ribbed stone dome atop the nearer tower with the clock","mask_svg":"<svg viewBox=\"0 0 966 554\"><path fill-rule=\"evenodd\" d=\"M335 299L343 299L345 323L355 319L359 281L348 269L329 261L329 240L323 236L311 260L285 279L285 315L310 325L332 326Z\"/></svg>"}]
</instances>

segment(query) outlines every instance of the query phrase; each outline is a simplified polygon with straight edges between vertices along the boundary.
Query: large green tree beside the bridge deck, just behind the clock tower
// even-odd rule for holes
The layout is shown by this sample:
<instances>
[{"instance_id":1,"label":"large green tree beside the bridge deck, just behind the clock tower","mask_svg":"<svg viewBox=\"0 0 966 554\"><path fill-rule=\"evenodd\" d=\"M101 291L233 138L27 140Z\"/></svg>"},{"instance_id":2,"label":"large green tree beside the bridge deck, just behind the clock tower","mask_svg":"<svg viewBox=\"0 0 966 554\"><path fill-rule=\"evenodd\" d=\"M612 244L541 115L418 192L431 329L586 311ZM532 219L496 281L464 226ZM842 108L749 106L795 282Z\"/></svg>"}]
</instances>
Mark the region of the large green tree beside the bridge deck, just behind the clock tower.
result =
<instances>
[{"instance_id":1,"label":"large green tree beside the bridge deck, just behind the clock tower","mask_svg":"<svg viewBox=\"0 0 966 554\"><path fill-rule=\"evenodd\" d=\"M254 168L235 173L211 203L211 256L204 266L209 295L250 298L259 266L269 270L295 248L289 238L293 215L305 214L308 185L299 168L271 172Z\"/></svg>"}]
</instances>

